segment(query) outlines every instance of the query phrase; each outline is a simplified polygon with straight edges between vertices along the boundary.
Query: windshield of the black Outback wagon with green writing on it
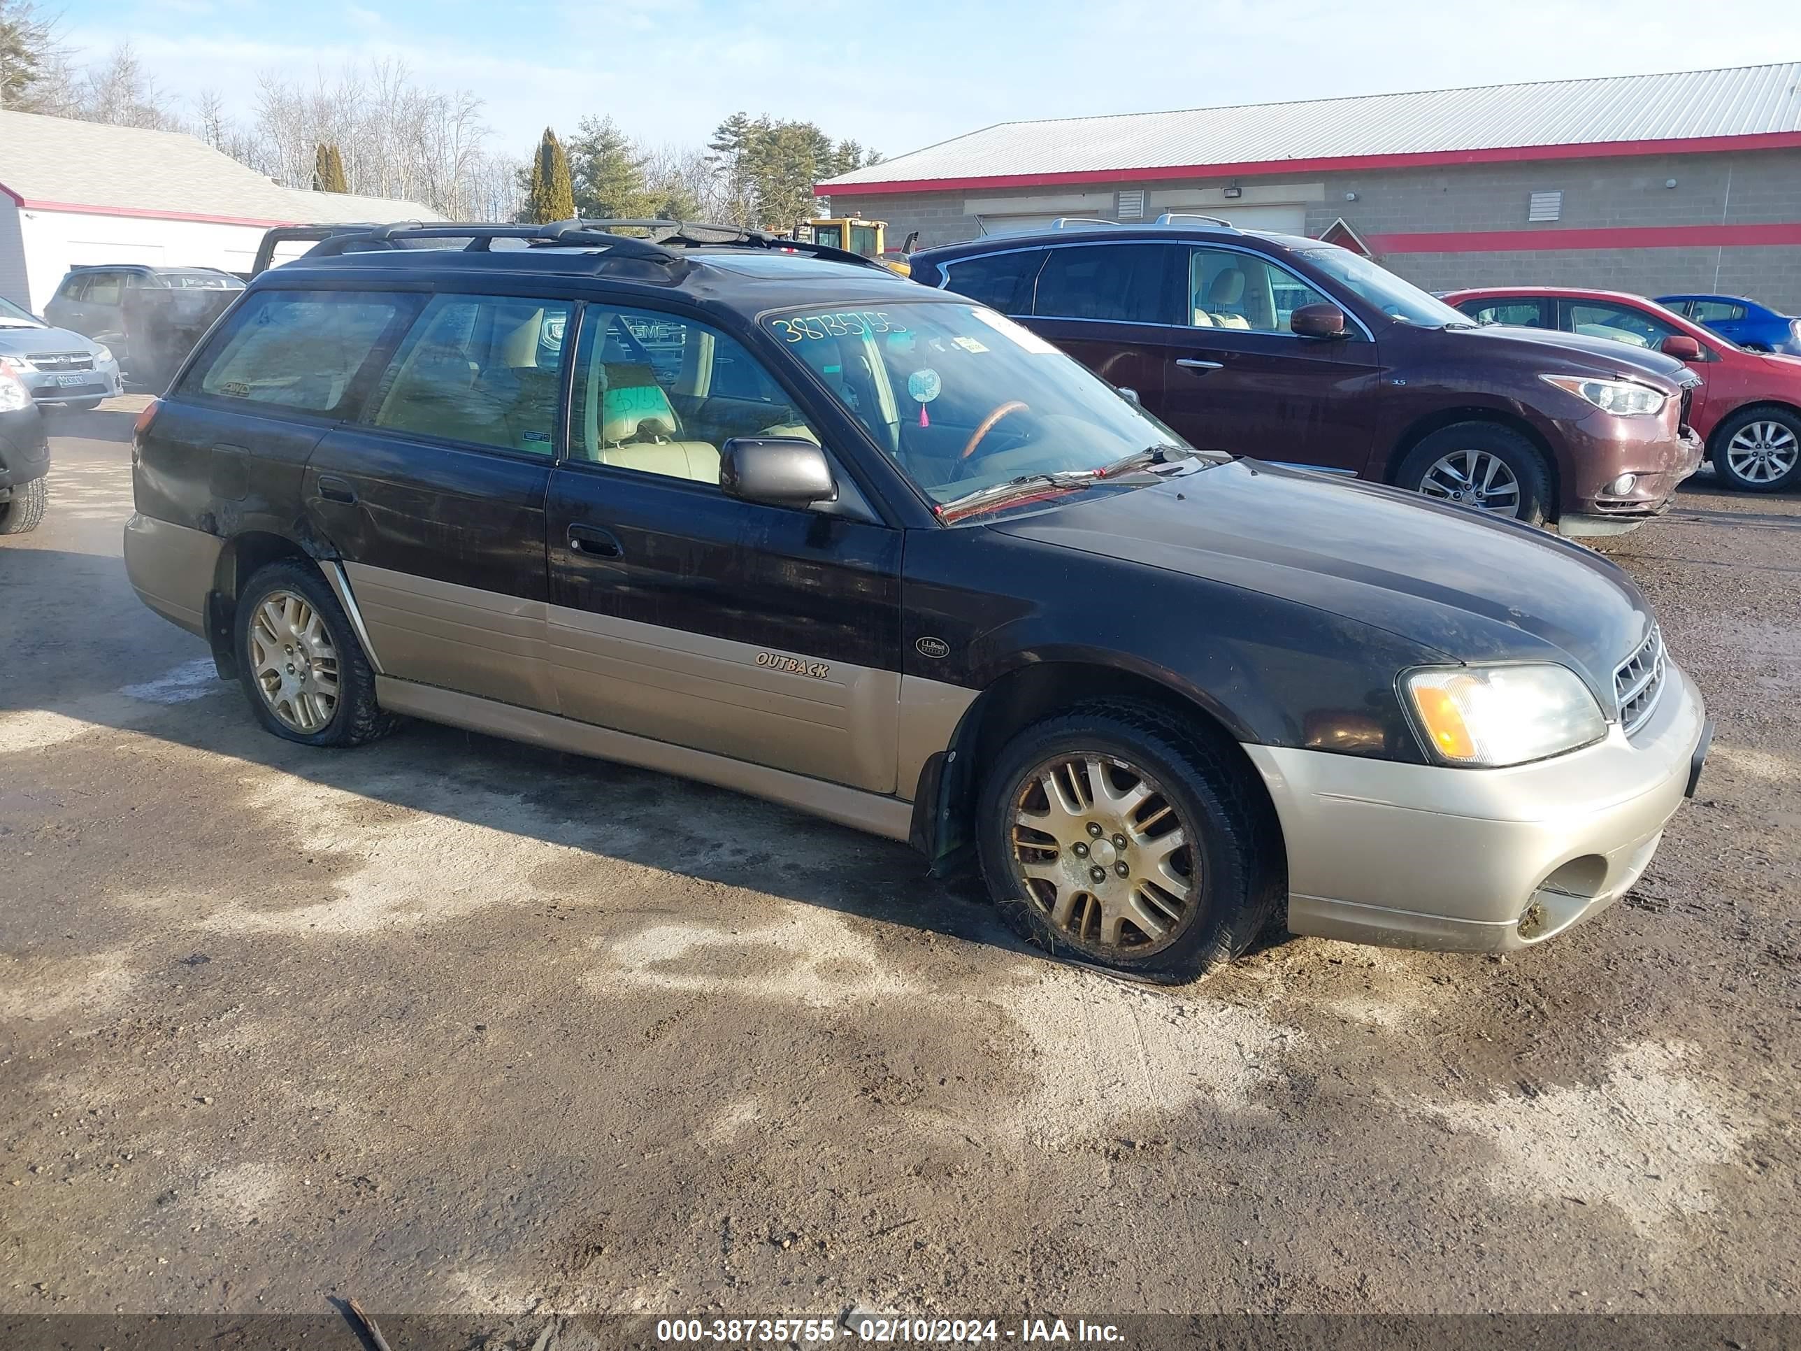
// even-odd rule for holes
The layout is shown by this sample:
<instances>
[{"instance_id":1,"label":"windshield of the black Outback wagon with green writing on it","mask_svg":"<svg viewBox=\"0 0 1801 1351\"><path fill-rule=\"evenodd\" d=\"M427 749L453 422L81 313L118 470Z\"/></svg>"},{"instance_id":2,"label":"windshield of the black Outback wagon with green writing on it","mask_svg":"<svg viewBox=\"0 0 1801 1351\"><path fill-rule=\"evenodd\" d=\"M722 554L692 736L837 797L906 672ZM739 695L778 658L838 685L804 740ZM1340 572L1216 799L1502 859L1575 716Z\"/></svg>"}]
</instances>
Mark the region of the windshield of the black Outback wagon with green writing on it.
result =
<instances>
[{"instance_id":1,"label":"windshield of the black Outback wagon with green writing on it","mask_svg":"<svg viewBox=\"0 0 1801 1351\"><path fill-rule=\"evenodd\" d=\"M933 501L1189 445L1088 367L976 304L789 310L769 331Z\"/></svg>"}]
</instances>

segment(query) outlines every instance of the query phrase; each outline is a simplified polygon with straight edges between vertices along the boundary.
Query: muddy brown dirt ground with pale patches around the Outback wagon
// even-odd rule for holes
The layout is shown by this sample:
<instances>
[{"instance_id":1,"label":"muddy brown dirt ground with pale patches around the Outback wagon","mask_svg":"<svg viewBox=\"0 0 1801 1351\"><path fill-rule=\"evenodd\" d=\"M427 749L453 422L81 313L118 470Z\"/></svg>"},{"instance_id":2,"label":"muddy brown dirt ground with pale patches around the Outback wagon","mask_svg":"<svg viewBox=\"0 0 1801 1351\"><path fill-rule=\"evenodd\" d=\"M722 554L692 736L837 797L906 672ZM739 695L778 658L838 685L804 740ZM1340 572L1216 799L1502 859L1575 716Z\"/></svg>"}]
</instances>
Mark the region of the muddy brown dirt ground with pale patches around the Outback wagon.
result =
<instances>
[{"instance_id":1,"label":"muddy brown dirt ground with pale patches around the Outback wagon","mask_svg":"<svg viewBox=\"0 0 1801 1351\"><path fill-rule=\"evenodd\" d=\"M1608 546L1718 717L1625 904L1171 993L729 793L258 731L126 585L137 405L0 542L0 1311L1801 1310L1801 497Z\"/></svg>"}]
</instances>

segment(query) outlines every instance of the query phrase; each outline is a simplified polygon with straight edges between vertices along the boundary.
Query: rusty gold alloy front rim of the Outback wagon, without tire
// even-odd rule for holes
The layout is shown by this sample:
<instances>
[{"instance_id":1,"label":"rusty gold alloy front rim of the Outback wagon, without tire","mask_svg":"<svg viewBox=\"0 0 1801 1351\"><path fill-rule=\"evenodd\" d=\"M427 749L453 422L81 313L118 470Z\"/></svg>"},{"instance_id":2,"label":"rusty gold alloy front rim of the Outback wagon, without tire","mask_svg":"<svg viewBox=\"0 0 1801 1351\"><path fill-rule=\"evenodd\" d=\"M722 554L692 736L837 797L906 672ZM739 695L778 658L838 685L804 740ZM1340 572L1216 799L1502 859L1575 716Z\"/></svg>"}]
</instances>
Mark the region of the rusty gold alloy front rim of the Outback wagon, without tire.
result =
<instances>
[{"instance_id":1,"label":"rusty gold alloy front rim of the Outback wagon, without tire","mask_svg":"<svg viewBox=\"0 0 1801 1351\"><path fill-rule=\"evenodd\" d=\"M1091 955L1167 948L1199 911L1189 823L1144 769L1108 755L1063 755L1014 798L1010 857L1027 899Z\"/></svg>"}]
</instances>

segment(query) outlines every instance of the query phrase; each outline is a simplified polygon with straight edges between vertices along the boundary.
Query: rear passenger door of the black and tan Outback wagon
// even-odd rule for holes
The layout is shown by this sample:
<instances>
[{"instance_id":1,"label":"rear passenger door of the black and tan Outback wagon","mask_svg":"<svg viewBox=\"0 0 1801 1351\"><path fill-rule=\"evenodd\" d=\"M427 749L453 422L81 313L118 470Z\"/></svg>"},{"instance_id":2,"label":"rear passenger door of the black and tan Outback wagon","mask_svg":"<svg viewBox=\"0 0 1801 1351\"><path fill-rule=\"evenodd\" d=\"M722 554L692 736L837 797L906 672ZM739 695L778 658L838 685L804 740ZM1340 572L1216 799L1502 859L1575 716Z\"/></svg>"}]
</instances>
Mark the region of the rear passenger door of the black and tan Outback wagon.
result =
<instances>
[{"instance_id":1,"label":"rear passenger door of the black and tan Outback wagon","mask_svg":"<svg viewBox=\"0 0 1801 1351\"><path fill-rule=\"evenodd\" d=\"M308 461L308 515L342 551L387 676L555 710L544 501L575 306L477 292L405 304L360 407Z\"/></svg>"}]
</instances>

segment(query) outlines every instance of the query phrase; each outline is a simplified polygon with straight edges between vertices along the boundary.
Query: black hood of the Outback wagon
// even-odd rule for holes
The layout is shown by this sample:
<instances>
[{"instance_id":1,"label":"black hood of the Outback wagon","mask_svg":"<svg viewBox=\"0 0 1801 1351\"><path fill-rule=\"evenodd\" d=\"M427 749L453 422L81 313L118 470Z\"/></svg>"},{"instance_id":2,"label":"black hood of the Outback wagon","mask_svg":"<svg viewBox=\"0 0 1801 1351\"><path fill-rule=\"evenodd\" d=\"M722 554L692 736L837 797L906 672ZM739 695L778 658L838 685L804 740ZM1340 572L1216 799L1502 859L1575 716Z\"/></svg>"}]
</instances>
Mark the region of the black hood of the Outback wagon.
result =
<instances>
[{"instance_id":1,"label":"black hood of the Outback wagon","mask_svg":"<svg viewBox=\"0 0 1801 1351\"><path fill-rule=\"evenodd\" d=\"M1561 661L1603 708L1652 621L1632 578L1556 535L1255 459L991 530L1282 596L1453 661Z\"/></svg>"}]
</instances>

